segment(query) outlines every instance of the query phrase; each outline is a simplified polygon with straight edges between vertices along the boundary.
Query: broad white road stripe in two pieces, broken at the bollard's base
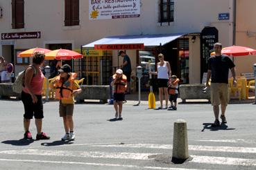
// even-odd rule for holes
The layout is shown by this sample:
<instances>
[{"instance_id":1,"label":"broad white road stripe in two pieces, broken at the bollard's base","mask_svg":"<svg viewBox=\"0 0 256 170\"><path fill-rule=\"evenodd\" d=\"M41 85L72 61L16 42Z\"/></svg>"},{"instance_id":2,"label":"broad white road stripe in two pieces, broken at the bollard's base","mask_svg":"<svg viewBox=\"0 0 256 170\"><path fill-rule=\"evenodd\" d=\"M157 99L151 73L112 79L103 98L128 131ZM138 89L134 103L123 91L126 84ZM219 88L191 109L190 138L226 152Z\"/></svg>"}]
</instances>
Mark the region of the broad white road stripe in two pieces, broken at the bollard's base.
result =
<instances>
[{"instance_id":1,"label":"broad white road stripe in two pieces, broken at the bollard's base","mask_svg":"<svg viewBox=\"0 0 256 170\"><path fill-rule=\"evenodd\" d=\"M46 151L39 149L22 149L0 151L1 154L11 155L50 155L50 156L63 156L63 157L82 157L82 158L114 158L114 159L129 159L129 160L153 160L148 158L149 155L156 155L157 153L117 153L117 152L95 152L95 151ZM158 153L160 154L160 153ZM205 163L205 164L228 164L228 165L243 165L243 166L256 166L255 159L244 158L226 158L214 157L203 155L191 155L193 158L191 162Z\"/></svg>"}]
</instances>

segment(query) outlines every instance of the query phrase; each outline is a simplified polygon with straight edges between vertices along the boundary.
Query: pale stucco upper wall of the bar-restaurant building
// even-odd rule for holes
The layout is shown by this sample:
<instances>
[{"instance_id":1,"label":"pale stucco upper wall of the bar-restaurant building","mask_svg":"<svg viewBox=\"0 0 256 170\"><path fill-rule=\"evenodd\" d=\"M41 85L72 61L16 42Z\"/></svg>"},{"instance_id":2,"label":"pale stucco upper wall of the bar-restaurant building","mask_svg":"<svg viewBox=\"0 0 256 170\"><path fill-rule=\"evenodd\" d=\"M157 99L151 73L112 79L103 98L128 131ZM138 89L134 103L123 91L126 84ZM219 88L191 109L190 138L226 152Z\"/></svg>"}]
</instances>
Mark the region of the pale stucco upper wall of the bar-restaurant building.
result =
<instances>
[{"instance_id":1,"label":"pale stucco upper wall of the bar-restaurant building","mask_svg":"<svg viewBox=\"0 0 256 170\"><path fill-rule=\"evenodd\" d=\"M165 26L158 23L158 0L142 0L141 12L138 18L89 20L89 1L80 1L80 26L64 26L64 0L26 0L25 28L11 28L11 3L0 1L3 17L0 18L0 33L41 31L40 39L22 39L15 41L15 49L46 47L46 44L70 43L72 48L89 44L96 39L110 35L147 35L177 32L200 32L205 26L215 26L219 30L219 41L223 46L232 45L232 0L175 0L174 21ZM230 20L219 21L219 13L229 12ZM2 41L2 40L1 40ZM198 66L200 67L200 46L197 41L191 48L189 68L190 79L200 82ZM0 46L0 55L2 54ZM198 50L196 50L197 48ZM136 66L135 51L127 52ZM193 58L192 58L193 57ZM117 65L114 61L113 66ZM199 65L198 65L199 62ZM196 67L196 68L194 68ZM200 71L199 71L200 72Z\"/></svg>"}]
</instances>

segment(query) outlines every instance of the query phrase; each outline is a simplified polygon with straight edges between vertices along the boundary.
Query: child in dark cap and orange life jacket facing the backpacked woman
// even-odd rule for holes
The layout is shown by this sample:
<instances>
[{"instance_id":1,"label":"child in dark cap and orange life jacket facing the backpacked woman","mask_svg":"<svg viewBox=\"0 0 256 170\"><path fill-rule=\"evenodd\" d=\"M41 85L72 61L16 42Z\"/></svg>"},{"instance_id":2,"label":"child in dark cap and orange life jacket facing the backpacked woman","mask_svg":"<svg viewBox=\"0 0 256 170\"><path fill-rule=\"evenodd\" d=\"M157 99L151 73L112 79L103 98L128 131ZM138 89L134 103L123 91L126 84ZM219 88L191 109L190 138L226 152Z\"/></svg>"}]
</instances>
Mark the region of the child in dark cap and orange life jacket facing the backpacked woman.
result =
<instances>
[{"instance_id":1,"label":"child in dark cap and orange life jacket facing the backpacked woman","mask_svg":"<svg viewBox=\"0 0 256 170\"><path fill-rule=\"evenodd\" d=\"M80 86L74 81L76 73L71 73L71 67L64 64L60 67L60 75L56 77L53 87L56 88L56 99L60 100L59 113L63 119L65 135L61 140L75 140L74 133L74 96L82 92Z\"/></svg>"}]
</instances>

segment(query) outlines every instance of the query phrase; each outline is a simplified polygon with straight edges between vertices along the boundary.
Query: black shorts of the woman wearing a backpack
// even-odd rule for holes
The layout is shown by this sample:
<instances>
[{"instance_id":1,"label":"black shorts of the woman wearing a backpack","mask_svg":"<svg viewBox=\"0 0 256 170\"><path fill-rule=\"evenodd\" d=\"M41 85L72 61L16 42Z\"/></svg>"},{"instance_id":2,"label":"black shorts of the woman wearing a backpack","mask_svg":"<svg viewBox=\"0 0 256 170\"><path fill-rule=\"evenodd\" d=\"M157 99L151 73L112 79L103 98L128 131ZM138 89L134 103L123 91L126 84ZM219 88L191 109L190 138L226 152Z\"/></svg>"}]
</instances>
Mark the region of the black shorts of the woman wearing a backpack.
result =
<instances>
[{"instance_id":1,"label":"black shorts of the woman wearing a backpack","mask_svg":"<svg viewBox=\"0 0 256 170\"><path fill-rule=\"evenodd\" d=\"M37 102L33 103L31 95L22 91L22 102L24 104L25 119L31 120L33 119L33 116L35 117L35 119L44 118L42 95L35 96L37 97Z\"/></svg>"}]
</instances>

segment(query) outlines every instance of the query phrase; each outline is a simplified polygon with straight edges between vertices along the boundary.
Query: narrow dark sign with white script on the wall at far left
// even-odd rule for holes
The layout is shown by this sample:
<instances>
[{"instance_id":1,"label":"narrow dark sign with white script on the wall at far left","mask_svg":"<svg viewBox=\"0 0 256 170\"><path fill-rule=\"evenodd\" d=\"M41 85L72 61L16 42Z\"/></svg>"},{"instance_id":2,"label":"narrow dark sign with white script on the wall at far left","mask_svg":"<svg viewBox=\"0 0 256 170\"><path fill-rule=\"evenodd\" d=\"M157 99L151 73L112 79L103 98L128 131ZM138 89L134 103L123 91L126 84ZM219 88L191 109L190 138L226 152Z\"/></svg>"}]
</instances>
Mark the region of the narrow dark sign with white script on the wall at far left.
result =
<instances>
[{"instance_id":1,"label":"narrow dark sign with white script on the wall at far left","mask_svg":"<svg viewBox=\"0 0 256 170\"><path fill-rule=\"evenodd\" d=\"M10 32L2 33L1 39L40 39L41 32Z\"/></svg>"}]
</instances>

